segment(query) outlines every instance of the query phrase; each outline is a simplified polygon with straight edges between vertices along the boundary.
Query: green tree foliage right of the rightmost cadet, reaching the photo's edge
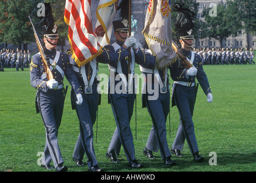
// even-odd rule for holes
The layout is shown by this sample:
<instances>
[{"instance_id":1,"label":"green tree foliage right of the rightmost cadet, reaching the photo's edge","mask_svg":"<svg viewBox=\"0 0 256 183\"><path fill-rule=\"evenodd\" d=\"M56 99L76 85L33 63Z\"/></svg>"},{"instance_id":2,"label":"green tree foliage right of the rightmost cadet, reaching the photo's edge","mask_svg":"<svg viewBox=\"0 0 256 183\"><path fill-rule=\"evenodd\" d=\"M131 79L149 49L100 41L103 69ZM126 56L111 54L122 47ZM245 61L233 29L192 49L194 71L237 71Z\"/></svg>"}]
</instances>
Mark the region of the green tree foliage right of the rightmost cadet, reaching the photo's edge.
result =
<instances>
[{"instance_id":1,"label":"green tree foliage right of the rightmost cadet, reaching the photo's edge","mask_svg":"<svg viewBox=\"0 0 256 183\"><path fill-rule=\"evenodd\" d=\"M204 21L200 22L200 38L214 38L220 41L237 36L238 31L245 33L256 32L256 1L255 0L227 0L226 4L217 6L217 16L209 14L212 8L203 11ZM247 45L249 43L247 36Z\"/></svg>"}]
</instances>

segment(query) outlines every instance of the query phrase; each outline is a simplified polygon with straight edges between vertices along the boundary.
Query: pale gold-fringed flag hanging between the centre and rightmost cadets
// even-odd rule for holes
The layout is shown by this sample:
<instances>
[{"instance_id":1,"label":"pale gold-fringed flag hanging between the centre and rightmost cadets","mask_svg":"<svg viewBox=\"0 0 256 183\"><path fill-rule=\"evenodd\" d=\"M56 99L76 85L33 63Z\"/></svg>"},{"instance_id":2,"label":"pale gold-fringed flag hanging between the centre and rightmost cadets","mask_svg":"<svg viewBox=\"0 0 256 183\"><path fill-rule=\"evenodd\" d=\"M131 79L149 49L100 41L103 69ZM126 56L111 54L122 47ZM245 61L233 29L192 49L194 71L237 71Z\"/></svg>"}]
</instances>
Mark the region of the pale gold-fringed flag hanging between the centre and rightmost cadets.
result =
<instances>
[{"instance_id":1,"label":"pale gold-fringed flag hanging between the centre and rightmost cadets","mask_svg":"<svg viewBox=\"0 0 256 183\"><path fill-rule=\"evenodd\" d=\"M176 58L172 49L171 0L151 0L142 31L149 49L157 56L157 68L164 69Z\"/></svg>"}]
</instances>

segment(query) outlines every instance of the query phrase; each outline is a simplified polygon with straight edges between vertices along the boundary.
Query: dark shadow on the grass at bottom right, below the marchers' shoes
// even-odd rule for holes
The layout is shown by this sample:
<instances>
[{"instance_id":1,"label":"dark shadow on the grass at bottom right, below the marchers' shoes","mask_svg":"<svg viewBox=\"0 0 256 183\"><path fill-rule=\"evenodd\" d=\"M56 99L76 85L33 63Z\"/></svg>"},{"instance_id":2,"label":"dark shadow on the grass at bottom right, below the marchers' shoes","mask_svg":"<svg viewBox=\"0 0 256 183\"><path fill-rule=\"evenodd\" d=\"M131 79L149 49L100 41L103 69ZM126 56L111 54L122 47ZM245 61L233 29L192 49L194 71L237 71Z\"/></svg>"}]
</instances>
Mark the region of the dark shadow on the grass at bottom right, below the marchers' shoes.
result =
<instances>
[{"instance_id":1,"label":"dark shadow on the grass at bottom right, below the marchers' shoes","mask_svg":"<svg viewBox=\"0 0 256 183\"><path fill-rule=\"evenodd\" d=\"M191 154L186 154L183 157L172 156L172 160L176 162L175 166L164 165L164 161L161 157L156 157L153 160L148 158L137 159L138 162L143 164L143 168L133 169L129 166L126 158L119 158L120 162L101 162L100 168L104 169L104 172L179 172L180 170L189 168L190 166L210 166L209 161L213 162L210 156L204 156L203 162L194 162ZM229 165L229 164L251 164L256 162L256 152L254 153L219 153L216 156L217 165Z\"/></svg>"}]
</instances>

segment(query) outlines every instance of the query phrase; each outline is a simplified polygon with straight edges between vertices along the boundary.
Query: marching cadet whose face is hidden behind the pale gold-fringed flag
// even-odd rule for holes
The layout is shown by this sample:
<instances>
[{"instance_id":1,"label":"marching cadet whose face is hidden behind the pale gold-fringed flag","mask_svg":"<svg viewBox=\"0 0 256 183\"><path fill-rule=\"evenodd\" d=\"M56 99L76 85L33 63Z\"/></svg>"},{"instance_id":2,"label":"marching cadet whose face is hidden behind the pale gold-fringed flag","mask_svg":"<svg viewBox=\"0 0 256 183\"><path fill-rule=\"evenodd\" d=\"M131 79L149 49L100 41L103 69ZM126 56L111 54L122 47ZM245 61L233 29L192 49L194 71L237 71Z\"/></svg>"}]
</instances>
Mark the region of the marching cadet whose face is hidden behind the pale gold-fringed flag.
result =
<instances>
[{"instance_id":1,"label":"marching cadet whose face is hidden behind the pale gold-fringed flag","mask_svg":"<svg viewBox=\"0 0 256 183\"><path fill-rule=\"evenodd\" d=\"M145 55L142 57L142 55ZM146 60L156 59L144 51L137 51L136 59L145 62ZM153 58L152 58L153 57ZM152 62L153 63L153 62ZM142 107L147 107L148 113L152 118L152 129L149 133L147 144L143 154L149 159L155 158L152 152L160 150L164 165L174 166L176 163L171 160L171 152L168 148L166 138L166 119L170 112L170 90L168 69L181 65L178 55L170 62L170 66L164 69L157 69L157 65L140 65L140 70L144 75L144 84L141 101ZM194 70L194 71L191 71ZM191 73L196 73L195 67L191 67Z\"/></svg>"}]
</instances>

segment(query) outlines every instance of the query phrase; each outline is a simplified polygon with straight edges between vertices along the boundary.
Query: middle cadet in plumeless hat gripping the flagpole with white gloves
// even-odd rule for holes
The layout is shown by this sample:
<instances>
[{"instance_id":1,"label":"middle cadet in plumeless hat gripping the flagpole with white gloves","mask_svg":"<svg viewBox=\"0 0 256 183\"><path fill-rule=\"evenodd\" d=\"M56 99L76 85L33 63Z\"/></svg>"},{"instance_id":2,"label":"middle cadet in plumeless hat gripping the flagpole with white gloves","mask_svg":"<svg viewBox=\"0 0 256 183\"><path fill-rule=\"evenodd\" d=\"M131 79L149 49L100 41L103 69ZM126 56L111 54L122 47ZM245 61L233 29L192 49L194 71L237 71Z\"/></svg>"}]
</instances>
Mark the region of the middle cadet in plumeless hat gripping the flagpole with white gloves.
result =
<instances>
[{"instance_id":1,"label":"middle cadet in plumeless hat gripping the flagpole with white gloves","mask_svg":"<svg viewBox=\"0 0 256 183\"><path fill-rule=\"evenodd\" d=\"M140 63L133 57L133 49L137 51L138 47L136 39L132 36L128 37L127 19L123 18L113 21L113 27L116 42L112 45L105 46L103 53L97 57L97 61L108 63L109 66L108 100L111 103L117 126L106 156L112 162L119 162L116 156L119 155L121 145L123 145L129 165L132 168L141 168L143 165L137 162L135 158L133 136L129 126L136 97L133 74L135 62L144 65L151 63ZM131 49L131 62L129 64L127 59L129 53L127 49L131 46L133 46L133 49ZM128 67L129 65L131 65L131 67ZM116 81L118 80L116 78L120 80ZM119 85L118 88L116 88L117 85Z\"/></svg>"}]
</instances>

